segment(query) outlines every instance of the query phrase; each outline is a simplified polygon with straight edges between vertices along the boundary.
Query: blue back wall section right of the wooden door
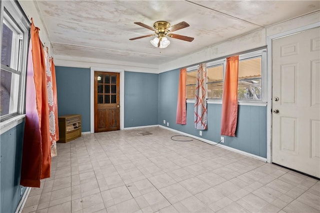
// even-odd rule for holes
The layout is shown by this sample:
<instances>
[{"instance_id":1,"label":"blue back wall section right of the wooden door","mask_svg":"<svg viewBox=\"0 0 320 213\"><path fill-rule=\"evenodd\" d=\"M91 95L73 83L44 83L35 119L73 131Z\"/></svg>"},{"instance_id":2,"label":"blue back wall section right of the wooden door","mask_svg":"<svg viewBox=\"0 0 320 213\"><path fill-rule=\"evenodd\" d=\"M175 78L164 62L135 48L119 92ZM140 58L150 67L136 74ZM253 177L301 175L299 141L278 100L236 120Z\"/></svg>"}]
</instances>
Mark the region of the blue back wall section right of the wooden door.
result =
<instances>
[{"instance_id":1,"label":"blue back wall section right of the wooden door","mask_svg":"<svg viewBox=\"0 0 320 213\"><path fill-rule=\"evenodd\" d=\"M158 74L124 73L124 127L158 124Z\"/></svg>"}]
</instances>

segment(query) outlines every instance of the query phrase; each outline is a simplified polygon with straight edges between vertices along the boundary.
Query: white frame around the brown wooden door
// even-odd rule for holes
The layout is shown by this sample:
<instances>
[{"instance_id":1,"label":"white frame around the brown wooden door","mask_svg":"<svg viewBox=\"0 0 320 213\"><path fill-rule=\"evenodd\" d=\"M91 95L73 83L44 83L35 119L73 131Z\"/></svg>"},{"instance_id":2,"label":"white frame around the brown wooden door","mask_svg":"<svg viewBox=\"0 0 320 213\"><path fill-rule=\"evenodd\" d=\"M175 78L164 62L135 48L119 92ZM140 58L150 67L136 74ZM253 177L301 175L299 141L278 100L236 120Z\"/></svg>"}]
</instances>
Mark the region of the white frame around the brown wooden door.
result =
<instances>
[{"instance_id":1,"label":"white frame around the brown wooden door","mask_svg":"<svg viewBox=\"0 0 320 213\"><path fill-rule=\"evenodd\" d=\"M94 133L94 71L120 73L120 130L124 129L124 69L90 67L90 133Z\"/></svg>"}]
</instances>

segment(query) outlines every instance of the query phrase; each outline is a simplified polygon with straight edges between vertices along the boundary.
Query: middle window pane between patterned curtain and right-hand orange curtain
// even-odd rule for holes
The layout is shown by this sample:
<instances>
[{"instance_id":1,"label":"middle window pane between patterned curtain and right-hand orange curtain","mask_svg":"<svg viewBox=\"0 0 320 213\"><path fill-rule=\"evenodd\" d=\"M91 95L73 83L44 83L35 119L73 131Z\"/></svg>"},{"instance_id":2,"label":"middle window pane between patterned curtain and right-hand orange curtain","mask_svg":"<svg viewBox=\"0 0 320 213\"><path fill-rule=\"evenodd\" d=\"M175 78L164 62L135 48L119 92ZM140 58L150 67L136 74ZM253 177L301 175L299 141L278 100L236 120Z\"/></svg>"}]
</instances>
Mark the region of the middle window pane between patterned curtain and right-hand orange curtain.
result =
<instances>
[{"instance_id":1,"label":"middle window pane between patterned curtain and right-hand orange curtain","mask_svg":"<svg viewBox=\"0 0 320 213\"><path fill-rule=\"evenodd\" d=\"M223 92L223 64L206 69L206 90L208 99L222 98Z\"/></svg>"}]
</instances>

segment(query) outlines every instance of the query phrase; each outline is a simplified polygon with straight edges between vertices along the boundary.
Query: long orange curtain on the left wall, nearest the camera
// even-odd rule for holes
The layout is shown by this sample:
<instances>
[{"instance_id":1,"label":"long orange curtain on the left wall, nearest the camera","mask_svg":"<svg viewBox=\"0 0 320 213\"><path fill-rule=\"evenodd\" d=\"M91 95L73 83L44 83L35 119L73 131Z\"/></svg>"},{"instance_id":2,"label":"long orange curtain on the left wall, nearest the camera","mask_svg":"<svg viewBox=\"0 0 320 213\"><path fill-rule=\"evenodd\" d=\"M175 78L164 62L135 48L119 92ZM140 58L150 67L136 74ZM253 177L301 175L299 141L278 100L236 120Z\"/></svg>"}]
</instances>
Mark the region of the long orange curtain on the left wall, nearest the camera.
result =
<instances>
[{"instance_id":1,"label":"long orange curtain on the left wall, nearest the camera","mask_svg":"<svg viewBox=\"0 0 320 213\"><path fill-rule=\"evenodd\" d=\"M20 185L40 187L50 177L51 151L44 51L32 18L30 36Z\"/></svg>"}]
</instances>

